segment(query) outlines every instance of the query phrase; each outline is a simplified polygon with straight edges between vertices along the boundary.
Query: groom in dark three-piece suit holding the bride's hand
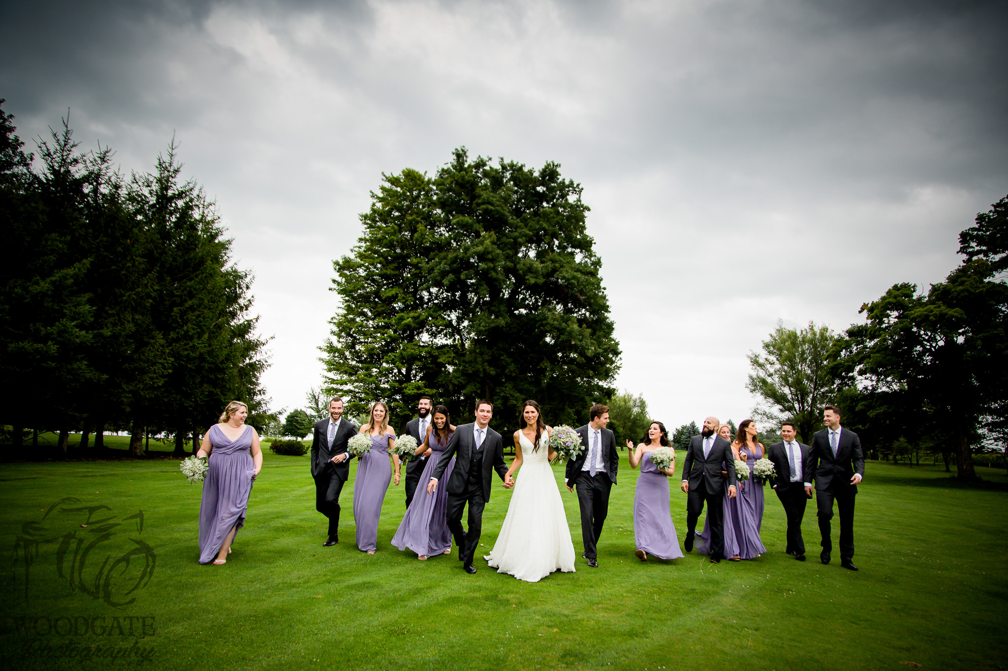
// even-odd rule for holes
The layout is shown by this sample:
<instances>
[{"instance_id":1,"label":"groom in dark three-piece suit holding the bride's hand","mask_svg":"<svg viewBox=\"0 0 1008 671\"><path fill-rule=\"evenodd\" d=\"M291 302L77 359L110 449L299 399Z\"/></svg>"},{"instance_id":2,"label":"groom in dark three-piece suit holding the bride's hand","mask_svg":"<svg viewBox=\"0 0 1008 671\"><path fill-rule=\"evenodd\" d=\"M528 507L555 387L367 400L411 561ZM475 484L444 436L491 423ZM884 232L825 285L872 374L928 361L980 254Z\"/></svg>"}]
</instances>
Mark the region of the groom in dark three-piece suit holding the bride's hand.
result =
<instances>
[{"instance_id":1,"label":"groom in dark three-piece suit holding the bride's hand","mask_svg":"<svg viewBox=\"0 0 1008 671\"><path fill-rule=\"evenodd\" d=\"M427 494L437 489L437 481L445 475L448 465L455 457L455 468L448 479L448 528L455 536L459 547L459 560L467 573L475 573L473 555L480 546L480 532L483 530L483 508L490 501L493 472L504 481L504 487L514 486L514 478L507 475L504 463L504 444L501 435L488 425L494 415L494 404L489 400L476 403L476 422L462 425L449 439L448 447L442 453L430 482ZM469 531L462 528L462 511L469 504Z\"/></svg>"}]
</instances>

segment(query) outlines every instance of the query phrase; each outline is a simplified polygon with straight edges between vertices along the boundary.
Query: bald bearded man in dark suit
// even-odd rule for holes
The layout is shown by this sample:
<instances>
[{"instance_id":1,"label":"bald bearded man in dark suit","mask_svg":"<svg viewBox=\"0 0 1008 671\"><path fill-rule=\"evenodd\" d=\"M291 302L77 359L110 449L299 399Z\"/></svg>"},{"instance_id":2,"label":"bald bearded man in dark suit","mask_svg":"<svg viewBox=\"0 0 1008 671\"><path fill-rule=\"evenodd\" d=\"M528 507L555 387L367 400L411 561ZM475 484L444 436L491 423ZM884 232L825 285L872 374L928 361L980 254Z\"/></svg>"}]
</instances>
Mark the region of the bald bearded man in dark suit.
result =
<instances>
[{"instance_id":1,"label":"bald bearded man in dark suit","mask_svg":"<svg viewBox=\"0 0 1008 671\"><path fill-rule=\"evenodd\" d=\"M721 422L718 417L704 420L700 436L689 439L689 448L682 464L682 491L686 493L686 552L692 551L697 520L704 512L711 520L711 561L718 563L725 558L725 486L729 498L735 498L735 454L732 445L718 436ZM722 475L728 472L728 477ZM726 482L727 481L727 482Z\"/></svg>"}]
</instances>

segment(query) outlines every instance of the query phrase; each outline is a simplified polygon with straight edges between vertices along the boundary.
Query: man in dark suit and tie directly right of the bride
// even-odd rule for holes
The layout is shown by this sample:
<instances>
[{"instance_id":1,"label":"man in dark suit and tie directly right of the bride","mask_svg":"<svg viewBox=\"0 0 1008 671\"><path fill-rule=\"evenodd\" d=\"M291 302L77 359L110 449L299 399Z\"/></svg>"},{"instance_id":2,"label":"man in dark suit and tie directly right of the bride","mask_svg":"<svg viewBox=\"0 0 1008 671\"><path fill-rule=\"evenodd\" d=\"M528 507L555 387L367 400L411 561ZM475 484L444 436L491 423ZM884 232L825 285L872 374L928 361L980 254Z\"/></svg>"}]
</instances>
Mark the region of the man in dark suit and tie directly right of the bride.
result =
<instances>
[{"instance_id":1,"label":"man in dark suit and tie directly right of the bride","mask_svg":"<svg viewBox=\"0 0 1008 671\"><path fill-rule=\"evenodd\" d=\"M578 488L581 507L581 539L585 546L582 557L592 568L599 566L599 536L609 514L609 491L616 484L620 455L616 452L616 437L606 429L609 407L596 403L588 411L589 423L575 431L584 446L577 459L568 461L564 480L568 491Z\"/></svg>"}]
</instances>

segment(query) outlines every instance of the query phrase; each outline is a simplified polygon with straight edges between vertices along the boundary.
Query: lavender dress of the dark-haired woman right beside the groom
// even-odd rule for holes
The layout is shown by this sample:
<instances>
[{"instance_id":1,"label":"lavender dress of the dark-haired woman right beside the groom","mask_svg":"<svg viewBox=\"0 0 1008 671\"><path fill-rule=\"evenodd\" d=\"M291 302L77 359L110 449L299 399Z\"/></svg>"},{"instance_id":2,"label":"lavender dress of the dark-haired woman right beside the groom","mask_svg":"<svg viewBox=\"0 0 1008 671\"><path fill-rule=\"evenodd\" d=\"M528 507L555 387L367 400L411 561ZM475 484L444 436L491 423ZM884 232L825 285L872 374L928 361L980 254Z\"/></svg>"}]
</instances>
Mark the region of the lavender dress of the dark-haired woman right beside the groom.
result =
<instances>
[{"instance_id":1,"label":"lavender dress of the dark-haired woman right beside the groom","mask_svg":"<svg viewBox=\"0 0 1008 671\"><path fill-rule=\"evenodd\" d=\"M452 432L454 433L454 432ZM430 448L430 459L423 467L420 482L416 486L416 494L402 517L399 529L392 536L392 544L400 550L407 547L417 554L433 556L452 548L452 532L448 528L448 487L438 487L433 495L427 494L427 483L430 474L437 466L437 460L448 447L452 433L444 440L435 431L430 432L427 446ZM455 468L455 458L449 462L442 482L448 482Z\"/></svg>"}]
</instances>

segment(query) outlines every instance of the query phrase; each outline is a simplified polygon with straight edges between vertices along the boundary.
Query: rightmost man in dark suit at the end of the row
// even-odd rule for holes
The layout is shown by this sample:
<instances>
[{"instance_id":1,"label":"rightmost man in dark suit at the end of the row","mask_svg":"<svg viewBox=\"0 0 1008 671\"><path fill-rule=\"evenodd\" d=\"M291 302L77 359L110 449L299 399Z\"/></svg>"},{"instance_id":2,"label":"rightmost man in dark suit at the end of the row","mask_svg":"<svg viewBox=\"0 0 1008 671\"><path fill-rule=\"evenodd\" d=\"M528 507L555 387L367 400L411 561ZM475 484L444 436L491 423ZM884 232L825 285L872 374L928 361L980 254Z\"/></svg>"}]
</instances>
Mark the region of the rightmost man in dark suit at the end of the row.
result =
<instances>
[{"instance_id":1,"label":"rightmost man in dark suit at the end of the row","mask_svg":"<svg viewBox=\"0 0 1008 671\"><path fill-rule=\"evenodd\" d=\"M827 405L823 409L826 429L812 437L811 450L805 473L815 483L815 508L820 522L823 552L820 559L830 563L833 550L830 520L833 519L833 502L837 501L840 512L840 565L850 570L858 570L854 558L854 498L858 494L858 483L865 477L865 456L861 450L861 439L849 429L840 426L840 408ZM805 476L805 477L808 477ZM812 488L805 487L811 496Z\"/></svg>"}]
</instances>

